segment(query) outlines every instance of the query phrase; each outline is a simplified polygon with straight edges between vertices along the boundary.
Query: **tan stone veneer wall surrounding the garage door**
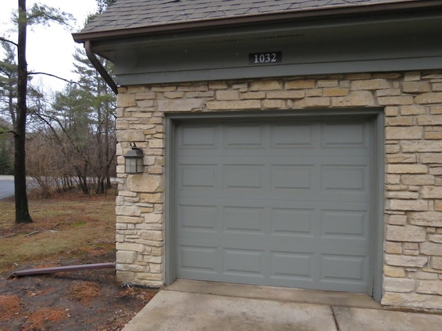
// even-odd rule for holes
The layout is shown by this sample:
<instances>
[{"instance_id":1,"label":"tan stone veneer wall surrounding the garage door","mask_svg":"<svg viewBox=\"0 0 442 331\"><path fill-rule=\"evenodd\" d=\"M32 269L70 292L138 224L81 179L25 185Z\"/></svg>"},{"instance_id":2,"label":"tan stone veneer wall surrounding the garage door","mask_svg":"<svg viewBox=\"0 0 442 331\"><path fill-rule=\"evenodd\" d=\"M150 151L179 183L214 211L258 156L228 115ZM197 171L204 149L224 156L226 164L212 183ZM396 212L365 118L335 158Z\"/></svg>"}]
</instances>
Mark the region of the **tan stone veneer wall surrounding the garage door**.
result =
<instances>
[{"instance_id":1,"label":"tan stone veneer wall surrounding the garage door","mask_svg":"<svg viewBox=\"0 0 442 331\"><path fill-rule=\"evenodd\" d=\"M384 305L442 309L442 70L119 88L117 277L164 284L164 113L385 110ZM135 142L144 174L124 173Z\"/></svg>"}]
</instances>

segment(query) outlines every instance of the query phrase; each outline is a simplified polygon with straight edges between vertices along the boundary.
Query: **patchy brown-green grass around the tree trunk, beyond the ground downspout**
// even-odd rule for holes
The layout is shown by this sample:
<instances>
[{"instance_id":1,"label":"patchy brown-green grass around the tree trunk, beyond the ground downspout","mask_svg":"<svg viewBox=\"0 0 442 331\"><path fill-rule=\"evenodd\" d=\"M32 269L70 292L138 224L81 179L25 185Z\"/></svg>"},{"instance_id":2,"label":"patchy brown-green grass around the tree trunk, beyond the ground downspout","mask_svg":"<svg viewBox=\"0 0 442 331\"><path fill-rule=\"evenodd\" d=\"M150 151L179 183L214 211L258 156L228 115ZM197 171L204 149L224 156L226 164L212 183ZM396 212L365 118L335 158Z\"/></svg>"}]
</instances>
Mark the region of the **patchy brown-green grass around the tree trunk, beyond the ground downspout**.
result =
<instances>
[{"instance_id":1,"label":"patchy brown-green grass around the tree trunk, beyond the ground downspout","mask_svg":"<svg viewBox=\"0 0 442 331\"><path fill-rule=\"evenodd\" d=\"M14 201L0 201L0 275L35 261L115 248L115 194L30 199L29 211L34 222L16 225Z\"/></svg>"}]
</instances>

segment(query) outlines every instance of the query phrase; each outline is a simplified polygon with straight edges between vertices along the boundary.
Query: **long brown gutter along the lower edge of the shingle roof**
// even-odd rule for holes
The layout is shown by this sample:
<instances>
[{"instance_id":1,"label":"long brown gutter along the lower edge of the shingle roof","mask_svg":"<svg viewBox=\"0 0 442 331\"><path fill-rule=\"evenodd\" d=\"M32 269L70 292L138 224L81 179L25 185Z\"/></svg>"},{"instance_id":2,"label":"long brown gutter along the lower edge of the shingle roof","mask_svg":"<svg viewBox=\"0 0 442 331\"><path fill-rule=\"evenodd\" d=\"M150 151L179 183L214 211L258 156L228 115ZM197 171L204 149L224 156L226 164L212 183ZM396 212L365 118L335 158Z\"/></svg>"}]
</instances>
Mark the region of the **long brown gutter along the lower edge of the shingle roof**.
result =
<instances>
[{"instance_id":1,"label":"long brown gutter along the lower edge of the shingle roof","mask_svg":"<svg viewBox=\"0 0 442 331\"><path fill-rule=\"evenodd\" d=\"M249 14L238 17L220 17L213 19L201 19L176 23L158 24L154 26L140 26L135 28L109 29L93 32L73 33L73 39L77 43L85 41L99 41L104 39L118 39L135 37L145 34L157 34L167 32L184 32L189 30L202 30L207 28L222 28L225 26L244 26L256 23L271 23L292 19L320 19L325 17L357 16L363 14L392 13L403 10L429 10L440 8L442 0L405 0L392 3L374 3L364 6L340 6L327 8L314 8L307 10L292 10L288 12L271 12Z\"/></svg>"}]
</instances>

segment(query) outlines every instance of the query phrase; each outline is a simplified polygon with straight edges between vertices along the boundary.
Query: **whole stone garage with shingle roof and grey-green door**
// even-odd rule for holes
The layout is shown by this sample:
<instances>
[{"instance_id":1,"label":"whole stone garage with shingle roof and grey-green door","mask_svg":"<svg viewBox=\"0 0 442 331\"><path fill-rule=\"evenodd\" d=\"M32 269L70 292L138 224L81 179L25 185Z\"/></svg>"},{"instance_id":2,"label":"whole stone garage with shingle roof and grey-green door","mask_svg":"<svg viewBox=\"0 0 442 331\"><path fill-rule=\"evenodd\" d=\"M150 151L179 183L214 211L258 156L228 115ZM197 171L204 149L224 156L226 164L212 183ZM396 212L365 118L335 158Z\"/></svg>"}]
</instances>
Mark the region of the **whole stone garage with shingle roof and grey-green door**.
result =
<instances>
[{"instance_id":1,"label":"whole stone garage with shingle roof and grey-green door","mask_svg":"<svg viewBox=\"0 0 442 331\"><path fill-rule=\"evenodd\" d=\"M134 0L73 34L118 94L117 279L441 310L441 29L439 0Z\"/></svg>"}]
</instances>

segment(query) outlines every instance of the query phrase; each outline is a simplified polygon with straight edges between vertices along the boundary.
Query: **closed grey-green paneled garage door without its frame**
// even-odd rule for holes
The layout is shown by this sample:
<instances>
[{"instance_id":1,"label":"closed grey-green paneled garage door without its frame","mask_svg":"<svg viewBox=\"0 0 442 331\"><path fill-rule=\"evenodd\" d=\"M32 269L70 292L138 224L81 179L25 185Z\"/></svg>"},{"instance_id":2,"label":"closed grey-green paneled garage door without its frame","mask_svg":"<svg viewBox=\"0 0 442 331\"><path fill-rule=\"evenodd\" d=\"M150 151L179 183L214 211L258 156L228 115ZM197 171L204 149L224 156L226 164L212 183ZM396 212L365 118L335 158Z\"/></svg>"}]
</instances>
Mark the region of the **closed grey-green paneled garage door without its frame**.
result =
<instances>
[{"instance_id":1,"label":"closed grey-green paneled garage door without its frame","mask_svg":"<svg viewBox=\"0 0 442 331\"><path fill-rule=\"evenodd\" d=\"M175 132L177 278L369 292L372 122Z\"/></svg>"}]
</instances>

